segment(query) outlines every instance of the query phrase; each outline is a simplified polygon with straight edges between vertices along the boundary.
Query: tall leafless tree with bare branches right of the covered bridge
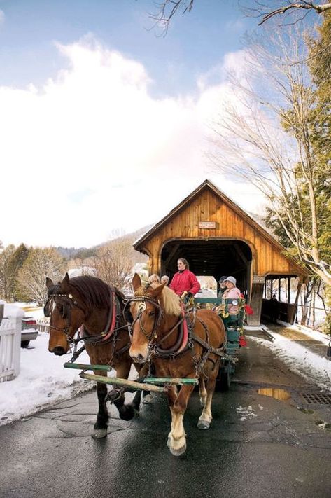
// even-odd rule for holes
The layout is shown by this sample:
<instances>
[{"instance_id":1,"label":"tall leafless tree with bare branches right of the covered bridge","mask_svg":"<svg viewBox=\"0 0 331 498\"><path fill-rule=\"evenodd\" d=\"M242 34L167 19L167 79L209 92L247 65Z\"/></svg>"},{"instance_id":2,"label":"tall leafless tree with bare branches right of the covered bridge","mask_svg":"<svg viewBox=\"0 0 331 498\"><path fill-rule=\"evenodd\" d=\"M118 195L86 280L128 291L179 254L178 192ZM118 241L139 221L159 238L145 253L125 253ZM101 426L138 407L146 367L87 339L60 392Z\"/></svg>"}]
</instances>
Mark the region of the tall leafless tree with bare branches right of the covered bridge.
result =
<instances>
[{"instance_id":1,"label":"tall leafless tree with bare branches right of the covered bridge","mask_svg":"<svg viewBox=\"0 0 331 498\"><path fill-rule=\"evenodd\" d=\"M230 77L232 100L212 125L211 162L265 195L297 257L331 284L318 248L317 161L310 127L314 85L307 65L290 64L305 54L304 43L297 27L275 30L264 40L246 50L249 76Z\"/></svg>"}]
</instances>

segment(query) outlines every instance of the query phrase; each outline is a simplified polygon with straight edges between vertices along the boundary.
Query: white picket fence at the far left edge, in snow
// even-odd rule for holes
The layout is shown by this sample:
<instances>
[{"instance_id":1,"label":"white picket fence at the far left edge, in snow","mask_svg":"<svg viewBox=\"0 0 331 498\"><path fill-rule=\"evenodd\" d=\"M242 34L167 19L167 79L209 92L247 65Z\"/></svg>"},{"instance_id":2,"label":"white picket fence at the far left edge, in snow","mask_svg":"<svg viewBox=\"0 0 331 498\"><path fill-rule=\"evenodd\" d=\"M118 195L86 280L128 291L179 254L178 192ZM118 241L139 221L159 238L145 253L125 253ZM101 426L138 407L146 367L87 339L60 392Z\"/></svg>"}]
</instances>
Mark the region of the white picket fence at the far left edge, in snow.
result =
<instances>
[{"instance_id":1,"label":"white picket fence at the far left edge, in snow","mask_svg":"<svg viewBox=\"0 0 331 498\"><path fill-rule=\"evenodd\" d=\"M20 373L21 321L3 319L0 324L0 382L13 380Z\"/></svg>"}]
</instances>

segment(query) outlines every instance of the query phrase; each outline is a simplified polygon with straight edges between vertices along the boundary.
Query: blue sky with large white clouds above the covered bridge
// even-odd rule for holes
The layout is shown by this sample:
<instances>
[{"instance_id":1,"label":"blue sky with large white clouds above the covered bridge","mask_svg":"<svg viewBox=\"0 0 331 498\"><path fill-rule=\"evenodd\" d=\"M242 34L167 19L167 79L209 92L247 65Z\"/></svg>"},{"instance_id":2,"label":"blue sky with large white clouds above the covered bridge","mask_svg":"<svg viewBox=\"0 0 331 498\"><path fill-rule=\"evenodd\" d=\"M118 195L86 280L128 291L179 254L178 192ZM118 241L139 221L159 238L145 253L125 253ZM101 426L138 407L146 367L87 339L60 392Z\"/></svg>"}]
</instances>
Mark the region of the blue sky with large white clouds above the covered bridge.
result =
<instances>
[{"instance_id":1,"label":"blue sky with large white clouds above the covered bridge","mask_svg":"<svg viewBox=\"0 0 331 498\"><path fill-rule=\"evenodd\" d=\"M153 0L0 0L5 246L105 242L156 223L206 178L261 211L206 159L257 21L237 0L197 1L160 36L153 12Z\"/></svg>"}]
</instances>

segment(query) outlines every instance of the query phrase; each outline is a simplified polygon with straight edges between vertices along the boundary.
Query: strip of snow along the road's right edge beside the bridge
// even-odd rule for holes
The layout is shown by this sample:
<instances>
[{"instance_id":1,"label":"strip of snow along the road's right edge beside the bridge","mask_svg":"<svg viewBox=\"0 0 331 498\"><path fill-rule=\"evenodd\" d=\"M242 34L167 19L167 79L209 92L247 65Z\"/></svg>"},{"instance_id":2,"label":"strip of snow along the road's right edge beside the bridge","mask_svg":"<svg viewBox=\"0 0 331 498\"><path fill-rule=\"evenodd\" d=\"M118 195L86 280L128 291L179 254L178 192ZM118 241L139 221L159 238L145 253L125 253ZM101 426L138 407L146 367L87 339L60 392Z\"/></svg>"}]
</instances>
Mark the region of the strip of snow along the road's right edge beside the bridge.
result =
<instances>
[{"instance_id":1,"label":"strip of snow along the road's right edge beside the bridge","mask_svg":"<svg viewBox=\"0 0 331 498\"><path fill-rule=\"evenodd\" d=\"M288 324L286 325L288 326ZM309 331L309 329L303 330L301 327L299 328L293 326L293 328L307 334L307 340L309 340L309 338L314 338L322 343L325 343L325 345L328 345L330 340L328 336L324 336L318 332ZM306 329L306 327L304 327L304 329ZM267 331L274 337L274 342L252 336L250 336L250 339L255 340L265 347L269 347L274 354L276 354L276 357L279 357L279 359L286 363L290 371L301 375L309 382L314 382L318 385L318 387L321 387L321 389L331 392L330 359L318 356L318 354L307 350L307 347L297 344L293 340L269 330L269 328L267 328Z\"/></svg>"}]
</instances>

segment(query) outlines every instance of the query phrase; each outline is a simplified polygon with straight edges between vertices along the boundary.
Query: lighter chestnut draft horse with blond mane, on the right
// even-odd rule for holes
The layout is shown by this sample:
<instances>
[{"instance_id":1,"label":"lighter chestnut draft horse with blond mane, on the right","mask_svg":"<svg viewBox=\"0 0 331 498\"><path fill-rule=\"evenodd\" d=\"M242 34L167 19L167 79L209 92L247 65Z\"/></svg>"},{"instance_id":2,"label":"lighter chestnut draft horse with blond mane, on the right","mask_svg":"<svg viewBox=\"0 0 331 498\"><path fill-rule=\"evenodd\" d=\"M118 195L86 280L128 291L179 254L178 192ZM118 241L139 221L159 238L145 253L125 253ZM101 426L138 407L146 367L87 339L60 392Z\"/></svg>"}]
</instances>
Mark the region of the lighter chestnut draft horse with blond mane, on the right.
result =
<instances>
[{"instance_id":1,"label":"lighter chestnut draft horse with blond mane, on the right","mask_svg":"<svg viewBox=\"0 0 331 498\"><path fill-rule=\"evenodd\" d=\"M134 298L130 300L132 345L129 353L137 362L153 362L156 377L198 378L203 406L197 427L209 429L211 400L220 358L225 354L225 327L211 310L185 312L178 296L164 285L141 286L139 275L132 279ZM183 417L194 386L168 389L171 431L167 445L175 456L186 449Z\"/></svg>"}]
</instances>

